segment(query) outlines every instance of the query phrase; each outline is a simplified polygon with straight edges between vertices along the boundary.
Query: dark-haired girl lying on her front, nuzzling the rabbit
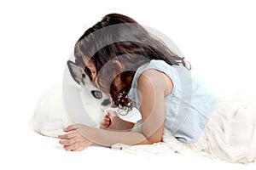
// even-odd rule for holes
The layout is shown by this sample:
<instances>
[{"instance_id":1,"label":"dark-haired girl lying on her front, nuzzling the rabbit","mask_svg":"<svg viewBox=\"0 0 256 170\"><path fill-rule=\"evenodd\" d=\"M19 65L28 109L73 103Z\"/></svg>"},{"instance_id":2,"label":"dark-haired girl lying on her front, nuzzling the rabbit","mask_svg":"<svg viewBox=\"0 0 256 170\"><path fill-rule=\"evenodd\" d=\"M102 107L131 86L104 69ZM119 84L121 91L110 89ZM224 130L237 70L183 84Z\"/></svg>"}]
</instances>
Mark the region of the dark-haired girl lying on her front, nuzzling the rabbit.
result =
<instances>
[{"instance_id":1,"label":"dark-haired girl lying on her front, nuzzling the rabbit","mask_svg":"<svg viewBox=\"0 0 256 170\"><path fill-rule=\"evenodd\" d=\"M137 107L142 120L137 132L124 131L134 124L116 122L109 115L101 123L105 128L69 126L64 129L67 133L59 136L66 150L84 150L90 144L154 144L162 140L166 128L178 141L192 144L191 148L213 150L221 159L255 160L255 112L239 115L239 119L232 115L222 119L217 97L190 75L188 62L135 20L122 14L106 15L79 38L74 55L77 65L97 88L111 96L114 105L126 113ZM251 131L247 136L235 133L236 123L226 122L247 123L248 119ZM225 126L233 128L229 131L233 133L225 131ZM207 136L210 133L212 136Z\"/></svg>"}]
</instances>

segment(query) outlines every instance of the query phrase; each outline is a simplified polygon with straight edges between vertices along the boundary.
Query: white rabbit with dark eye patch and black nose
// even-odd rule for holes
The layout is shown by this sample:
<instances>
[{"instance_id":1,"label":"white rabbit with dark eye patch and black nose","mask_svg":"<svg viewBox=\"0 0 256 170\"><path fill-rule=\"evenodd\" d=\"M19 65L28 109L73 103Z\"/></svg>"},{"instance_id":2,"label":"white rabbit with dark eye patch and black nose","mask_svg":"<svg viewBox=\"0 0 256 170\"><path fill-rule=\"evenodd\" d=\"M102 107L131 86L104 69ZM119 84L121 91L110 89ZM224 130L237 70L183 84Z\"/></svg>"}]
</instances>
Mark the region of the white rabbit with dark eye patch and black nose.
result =
<instances>
[{"instance_id":1,"label":"white rabbit with dark eye patch and black nose","mask_svg":"<svg viewBox=\"0 0 256 170\"><path fill-rule=\"evenodd\" d=\"M92 85L79 65L72 61L67 61L67 65L80 88L70 85L51 88L38 100L32 126L45 136L57 137L65 127L75 123L99 127L106 111L120 111L118 107L111 107L108 96ZM116 116L134 123L142 118L135 107L125 116Z\"/></svg>"}]
</instances>

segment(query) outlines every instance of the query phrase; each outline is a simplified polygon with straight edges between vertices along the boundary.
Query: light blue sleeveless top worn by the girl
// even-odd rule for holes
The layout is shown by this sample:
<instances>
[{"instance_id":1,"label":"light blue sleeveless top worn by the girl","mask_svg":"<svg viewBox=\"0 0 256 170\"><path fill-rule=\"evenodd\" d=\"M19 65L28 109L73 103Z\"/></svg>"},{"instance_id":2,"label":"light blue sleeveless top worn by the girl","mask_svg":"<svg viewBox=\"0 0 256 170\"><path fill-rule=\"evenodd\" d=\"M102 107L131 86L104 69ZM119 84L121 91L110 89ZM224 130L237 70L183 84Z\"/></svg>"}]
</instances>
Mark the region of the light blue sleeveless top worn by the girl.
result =
<instances>
[{"instance_id":1,"label":"light blue sleeveless top worn by the girl","mask_svg":"<svg viewBox=\"0 0 256 170\"><path fill-rule=\"evenodd\" d=\"M180 65L168 65L163 60L153 59L141 65L133 78L128 98L139 109L137 79L148 69L164 72L172 80L172 93L166 96L165 127L177 140L194 143L204 130L217 104L217 97L204 83L193 77L190 71Z\"/></svg>"}]
</instances>

